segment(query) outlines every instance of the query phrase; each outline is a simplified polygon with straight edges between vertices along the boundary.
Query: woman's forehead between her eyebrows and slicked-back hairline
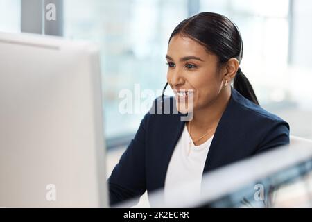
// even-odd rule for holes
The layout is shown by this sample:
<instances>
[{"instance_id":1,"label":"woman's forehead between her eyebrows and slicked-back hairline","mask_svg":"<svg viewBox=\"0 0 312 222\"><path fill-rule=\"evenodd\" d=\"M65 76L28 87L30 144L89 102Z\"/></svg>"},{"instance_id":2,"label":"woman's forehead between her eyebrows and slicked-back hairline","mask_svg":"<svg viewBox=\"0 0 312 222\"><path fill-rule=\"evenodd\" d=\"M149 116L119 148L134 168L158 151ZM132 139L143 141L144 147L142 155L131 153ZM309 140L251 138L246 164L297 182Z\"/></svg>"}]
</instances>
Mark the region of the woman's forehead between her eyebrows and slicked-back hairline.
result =
<instances>
[{"instance_id":1,"label":"woman's forehead between her eyebrows and slicked-back hairline","mask_svg":"<svg viewBox=\"0 0 312 222\"><path fill-rule=\"evenodd\" d=\"M202 46L195 40L182 35L175 35L168 44L168 56L180 58L184 56L198 56L200 58L209 58L211 54L207 53L205 46Z\"/></svg>"}]
</instances>

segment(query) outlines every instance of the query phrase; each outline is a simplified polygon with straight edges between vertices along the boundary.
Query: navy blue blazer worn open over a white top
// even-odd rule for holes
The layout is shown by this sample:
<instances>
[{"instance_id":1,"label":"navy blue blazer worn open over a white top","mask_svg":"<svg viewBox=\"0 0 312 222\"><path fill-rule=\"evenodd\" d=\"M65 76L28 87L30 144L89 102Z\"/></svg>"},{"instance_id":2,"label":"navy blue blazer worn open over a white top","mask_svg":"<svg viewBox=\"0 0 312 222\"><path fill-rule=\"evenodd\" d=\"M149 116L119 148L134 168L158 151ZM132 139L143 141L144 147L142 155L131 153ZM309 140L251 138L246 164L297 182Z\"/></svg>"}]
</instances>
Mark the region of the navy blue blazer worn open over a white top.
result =
<instances>
[{"instance_id":1,"label":"navy blue blazer worn open over a white top","mask_svg":"<svg viewBox=\"0 0 312 222\"><path fill-rule=\"evenodd\" d=\"M157 101L154 105L158 105ZM148 112L144 116L135 138L107 180L111 205L164 187L173 149L184 129L181 116L180 112ZM204 173L285 144L289 144L288 123L232 88L209 148Z\"/></svg>"}]
</instances>

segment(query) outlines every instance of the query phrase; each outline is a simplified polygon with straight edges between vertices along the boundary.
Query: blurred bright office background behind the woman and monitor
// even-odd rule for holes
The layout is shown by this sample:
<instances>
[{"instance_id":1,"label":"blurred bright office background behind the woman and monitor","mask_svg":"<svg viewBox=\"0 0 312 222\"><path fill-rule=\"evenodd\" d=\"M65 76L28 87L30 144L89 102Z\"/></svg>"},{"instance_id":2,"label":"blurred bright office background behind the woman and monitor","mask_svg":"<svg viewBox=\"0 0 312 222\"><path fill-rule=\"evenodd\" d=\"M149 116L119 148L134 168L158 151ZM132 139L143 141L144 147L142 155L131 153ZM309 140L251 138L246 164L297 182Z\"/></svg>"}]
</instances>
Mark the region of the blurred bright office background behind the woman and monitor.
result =
<instances>
[{"instance_id":1,"label":"blurred bright office background behind the woman and monitor","mask_svg":"<svg viewBox=\"0 0 312 222\"><path fill-rule=\"evenodd\" d=\"M35 23L31 19L35 19L36 7L43 8L43 2L0 0L0 31L32 32L28 25ZM62 19L54 31L47 31L43 22L42 34L45 30L49 35L90 40L101 47L105 137L108 158L112 160L109 171L145 114L119 113L120 90L134 90L135 84L141 90L162 89L166 83L169 35L182 19L204 11L226 15L239 26L244 43L242 71L252 83L261 106L288 121L292 135L312 139L312 1L55 2ZM33 17L26 13L31 10ZM170 91L168 88L167 93Z\"/></svg>"}]
</instances>

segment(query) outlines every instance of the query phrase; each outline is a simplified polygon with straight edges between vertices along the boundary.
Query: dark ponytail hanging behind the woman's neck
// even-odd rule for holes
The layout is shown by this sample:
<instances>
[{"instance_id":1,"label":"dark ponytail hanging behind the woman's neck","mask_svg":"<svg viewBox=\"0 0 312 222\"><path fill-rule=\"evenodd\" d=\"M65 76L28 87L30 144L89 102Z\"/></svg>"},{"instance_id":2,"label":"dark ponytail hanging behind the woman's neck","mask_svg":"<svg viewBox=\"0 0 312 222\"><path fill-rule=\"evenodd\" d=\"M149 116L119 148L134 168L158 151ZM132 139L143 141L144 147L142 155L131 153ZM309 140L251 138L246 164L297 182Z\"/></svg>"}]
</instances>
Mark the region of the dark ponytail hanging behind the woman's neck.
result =
<instances>
[{"instance_id":1,"label":"dark ponytail hanging behind the woman's neck","mask_svg":"<svg viewBox=\"0 0 312 222\"><path fill-rule=\"evenodd\" d=\"M254 89L252 88L248 78L243 74L243 71L241 71L241 67L239 67L239 70L236 73L233 87L245 98L259 105L257 96L254 94Z\"/></svg>"}]
</instances>

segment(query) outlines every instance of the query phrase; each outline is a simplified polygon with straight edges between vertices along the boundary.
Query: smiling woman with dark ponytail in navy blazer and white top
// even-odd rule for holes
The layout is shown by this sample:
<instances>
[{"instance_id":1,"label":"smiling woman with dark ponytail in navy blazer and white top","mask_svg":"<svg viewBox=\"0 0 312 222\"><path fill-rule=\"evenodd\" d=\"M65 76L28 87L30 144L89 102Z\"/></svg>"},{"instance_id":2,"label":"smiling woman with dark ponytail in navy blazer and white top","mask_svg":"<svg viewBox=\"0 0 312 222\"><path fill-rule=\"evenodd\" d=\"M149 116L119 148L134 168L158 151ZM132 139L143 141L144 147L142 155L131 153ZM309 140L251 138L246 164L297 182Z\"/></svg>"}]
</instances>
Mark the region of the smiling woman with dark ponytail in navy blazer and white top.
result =
<instances>
[{"instance_id":1,"label":"smiling woman with dark ponytail in navy blazer and white top","mask_svg":"<svg viewBox=\"0 0 312 222\"><path fill-rule=\"evenodd\" d=\"M166 55L175 97L164 102L175 100L178 113L142 119L108 180L110 204L159 188L170 200L168 190L188 181L187 195L199 195L203 173L289 144L288 123L260 107L242 56L239 29L223 15L202 12L175 28Z\"/></svg>"}]
</instances>

